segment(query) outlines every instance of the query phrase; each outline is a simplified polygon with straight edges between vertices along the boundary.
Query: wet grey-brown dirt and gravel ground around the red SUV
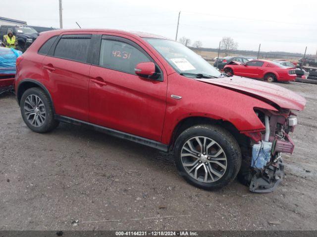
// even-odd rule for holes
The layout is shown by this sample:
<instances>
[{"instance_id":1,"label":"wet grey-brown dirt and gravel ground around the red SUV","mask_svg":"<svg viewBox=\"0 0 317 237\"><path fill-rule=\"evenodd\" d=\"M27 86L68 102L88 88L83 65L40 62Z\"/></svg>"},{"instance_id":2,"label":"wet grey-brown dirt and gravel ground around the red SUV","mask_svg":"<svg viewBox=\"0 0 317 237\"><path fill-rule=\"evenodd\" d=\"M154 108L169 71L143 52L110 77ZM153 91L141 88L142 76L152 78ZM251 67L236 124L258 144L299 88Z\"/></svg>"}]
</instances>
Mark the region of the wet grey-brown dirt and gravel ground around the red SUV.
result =
<instances>
[{"instance_id":1,"label":"wet grey-brown dirt and gravel ground around the red SUV","mask_svg":"<svg viewBox=\"0 0 317 237\"><path fill-rule=\"evenodd\" d=\"M286 178L270 194L238 181L197 189L170 156L82 127L34 133L14 96L1 95L0 230L316 230L317 85L279 85L307 107L294 154L284 155Z\"/></svg>"}]
</instances>

